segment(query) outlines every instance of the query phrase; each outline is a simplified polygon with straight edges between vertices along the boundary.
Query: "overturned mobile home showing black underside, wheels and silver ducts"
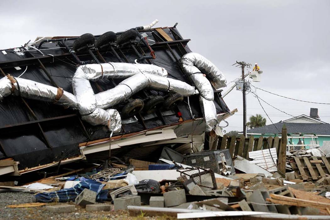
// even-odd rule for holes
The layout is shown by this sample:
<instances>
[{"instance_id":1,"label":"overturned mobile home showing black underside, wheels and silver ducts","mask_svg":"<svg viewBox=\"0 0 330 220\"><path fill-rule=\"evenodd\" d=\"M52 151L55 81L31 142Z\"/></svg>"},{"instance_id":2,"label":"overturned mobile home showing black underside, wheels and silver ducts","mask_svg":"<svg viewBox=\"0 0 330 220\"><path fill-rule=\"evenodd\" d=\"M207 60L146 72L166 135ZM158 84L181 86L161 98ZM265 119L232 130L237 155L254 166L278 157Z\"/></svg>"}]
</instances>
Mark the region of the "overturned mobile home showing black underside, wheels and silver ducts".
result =
<instances>
[{"instance_id":1,"label":"overturned mobile home showing black underside, wheels and silver ducts","mask_svg":"<svg viewBox=\"0 0 330 220\"><path fill-rule=\"evenodd\" d=\"M0 175L107 159L110 149L137 159L162 144L198 150L193 142L235 112L221 98L226 80L176 25L155 23L2 50Z\"/></svg>"}]
</instances>

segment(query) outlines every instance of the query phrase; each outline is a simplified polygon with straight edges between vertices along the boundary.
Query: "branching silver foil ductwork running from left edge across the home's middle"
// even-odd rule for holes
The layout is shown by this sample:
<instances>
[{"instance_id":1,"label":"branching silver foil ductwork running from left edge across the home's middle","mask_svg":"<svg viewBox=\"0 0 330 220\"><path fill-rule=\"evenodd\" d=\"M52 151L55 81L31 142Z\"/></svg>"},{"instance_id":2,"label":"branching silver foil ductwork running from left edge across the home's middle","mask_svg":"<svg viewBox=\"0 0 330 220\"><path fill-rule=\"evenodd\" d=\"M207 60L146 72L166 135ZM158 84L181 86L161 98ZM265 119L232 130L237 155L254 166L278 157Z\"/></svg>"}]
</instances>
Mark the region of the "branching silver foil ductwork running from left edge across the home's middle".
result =
<instances>
[{"instance_id":1,"label":"branching silver foil ductwork running from left edge across the home's middle","mask_svg":"<svg viewBox=\"0 0 330 220\"><path fill-rule=\"evenodd\" d=\"M115 88L94 94L90 80L122 78ZM92 125L106 125L119 132L121 119L117 110L107 109L127 100L134 93L145 89L181 93L183 96L198 94L195 88L185 82L167 78L164 68L149 64L105 63L88 64L77 68L72 80L74 95L43 83L29 79L13 78L10 75L0 79L0 100L14 94L29 99L42 100L78 109L82 119Z\"/></svg>"}]
</instances>

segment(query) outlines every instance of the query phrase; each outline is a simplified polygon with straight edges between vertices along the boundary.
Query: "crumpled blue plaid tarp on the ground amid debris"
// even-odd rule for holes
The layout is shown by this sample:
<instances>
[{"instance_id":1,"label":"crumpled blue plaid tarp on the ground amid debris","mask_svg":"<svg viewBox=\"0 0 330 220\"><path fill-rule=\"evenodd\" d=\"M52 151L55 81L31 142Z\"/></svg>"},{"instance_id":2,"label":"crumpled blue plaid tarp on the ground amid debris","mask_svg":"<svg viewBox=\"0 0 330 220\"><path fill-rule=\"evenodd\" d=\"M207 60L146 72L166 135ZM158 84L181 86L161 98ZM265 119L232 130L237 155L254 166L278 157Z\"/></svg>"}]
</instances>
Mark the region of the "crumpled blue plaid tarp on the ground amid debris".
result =
<instances>
[{"instance_id":1,"label":"crumpled blue plaid tarp on the ground amid debris","mask_svg":"<svg viewBox=\"0 0 330 220\"><path fill-rule=\"evenodd\" d=\"M109 190L102 190L105 184L98 181L86 179L75 185L73 188L61 189L50 193L38 193L35 195L37 202L69 202L75 201L83 189L89 189L97 193L96 201L107 201Z\"/></svg>"}]
</instances>

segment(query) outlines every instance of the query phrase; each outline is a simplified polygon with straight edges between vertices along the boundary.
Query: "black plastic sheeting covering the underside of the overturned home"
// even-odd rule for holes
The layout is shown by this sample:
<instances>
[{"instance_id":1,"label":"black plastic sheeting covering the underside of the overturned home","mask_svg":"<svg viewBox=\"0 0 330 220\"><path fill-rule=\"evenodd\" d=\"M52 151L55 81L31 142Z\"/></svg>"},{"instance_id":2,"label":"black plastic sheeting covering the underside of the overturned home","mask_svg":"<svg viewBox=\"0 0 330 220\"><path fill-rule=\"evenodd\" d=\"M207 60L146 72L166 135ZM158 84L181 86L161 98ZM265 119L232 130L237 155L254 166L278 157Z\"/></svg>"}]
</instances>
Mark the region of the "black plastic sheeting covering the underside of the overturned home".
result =
<instances>
[{"instance_id":1,"label":"black plastic sheeting covering the underside of the overturned home","mask_svg":"<svg viewBox=\"0 0 330 220\"><path fill-rule=\"evenodd\" d=\"M172 39L182 39L176 28L172 28L172 30L178 33L178 36L173 36L169 28L163 30ZM152 31L146 31L148 39L158 42L159 40L155 39L151 32ZM70 47L73 42L74 41L67 41L67 45ZM144 48L141 43L140 46ZM40 49L43 49L43 53L52 55L62 55L63 53L68 52L65 48L49 49L54 47L62 47L62 45L58 42L44 43ZM182 48L179 50L176 46L171 47L177 58L182 57ZM186 52L190 52L188 46L184 47ZM144 50L149 51L147 48L144 48ZM187 76L180 71L179 64L176 62L166 45L162 47L154 47L154 50L157 57L154 60L150 60L152 64L164 67L168 72L169 78L179 79L190 83ZM6 66L3 64L4 62L15 62L25 58L44 57L39 51L25 52L24 55L18 55L13 51L13 49L6 49L5 51L7 52L7 55L0 53L0 63L2 64L2 67ZM137 54L134 53L132 47L130 46L122 48L122 51L131 63L138 58ZM101 54L107 62L119 62L110 49L101 52ZM120 53L118 54L122 60L125 60ZM146 55L149 55L149 52L146 52ZM79 55L79 58L82 61L92 61L91 56L88 54ZM144 62L147 63L147 61ZM93 61L91 63L93 63ZM71 78L76 70L74 59L72 59L71 56L61 56L53 58L53 62L45 62L43 64L55 83L62 87L65 91L72 93ZM25 70L26 66L20 66L20 68L21 70L16 70L12 67L4 68L3 70L5 74L18 77ZM27 66L27 70L21 78L52 85L49 78L39 67L36 61L34 61L34 64L31 63L31 65ZM118 80L115 80L115 82L119 83ZM97 82L97 84L101 87L101 90L95 82L92 82L91 84L95 93L114 87L111 80ZM155 93L158 95L165 95L164 93L159 93L156 91L146 91L146 93L148 95ZM133 98L143 96L145 96L145 93L139 92L134 95ZM106 126L91 126L90 124L80 120L78 111L64 109L60 106L43 101L28 99L24 100L36 115L37 120L50 119L53 117L71 114L76 115L66 118L42 121L40 123L32 123L35 121L35 118L33 117L33 114L31 114L28 107L23 103L22 98L15 96L5 97L4 100L0 102L0 159L13 157L15 161L20 162L18 165L19 169L36 167L39 165L60 161L69 157L78 156L79 143L107 138L110 135ZM194 117L202 117L198 96L189 97L189 102ZM218 102L215 102L217 113L227 112L228 108L223 100L219 99ZM115 108L120 111L121 106L118 105ZM184 120L192 119L189 107L187 105L187 98L184 98L184 102L178 106L176 111L180 111L182 113L182 118ZM138 122L124 124L122 126L121 134L128 134L177 123L179 118L180 117L176 114L163 116L164 121L160 117L145 120L146 128L140 120Z\"/></svg>"}]
</instances>

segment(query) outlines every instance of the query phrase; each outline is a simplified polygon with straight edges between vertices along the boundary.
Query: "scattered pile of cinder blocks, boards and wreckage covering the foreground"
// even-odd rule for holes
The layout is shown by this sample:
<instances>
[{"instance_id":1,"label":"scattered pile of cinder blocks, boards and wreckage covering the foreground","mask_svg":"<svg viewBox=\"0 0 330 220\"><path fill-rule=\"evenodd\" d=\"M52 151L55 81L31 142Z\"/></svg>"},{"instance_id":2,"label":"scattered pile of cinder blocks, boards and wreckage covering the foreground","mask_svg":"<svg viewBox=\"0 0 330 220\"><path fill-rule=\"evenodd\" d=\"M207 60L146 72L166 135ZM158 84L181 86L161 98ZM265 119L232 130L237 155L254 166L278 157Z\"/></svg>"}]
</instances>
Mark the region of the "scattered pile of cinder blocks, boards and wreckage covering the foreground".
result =
<instances>
[{"instance_id":1,"label":"scattered pile of cinder blocks, boards and wreckage covering the foreground","mask_svg":"<svg viewBox=\"0 0 330 220\"><path fill-rule=\"evenodd\" d=\"M46 205L46 210L56 213L72 212L79 205L88 212L128 210L132 216L144 213L178 218L290 215L298 219L313 215L313 219L326 219L330 215L329 173L316 174L319 166L315 165L315 178L305 178L293 166L297 164L298 171L306 172L311 171L308 162L327 168L330 158L293 157L293 162L288 157L294 171L281 173L275 148L250 151L249 160L237 155L232 161L226 155L229 149L181 155L164 148L157 163L116 161L0 189L37 192L35 203L8 208ZM68 204L70 201L75 205ZM50 202L63 204L48 205Z\"/></svg>"}]
</instances>

